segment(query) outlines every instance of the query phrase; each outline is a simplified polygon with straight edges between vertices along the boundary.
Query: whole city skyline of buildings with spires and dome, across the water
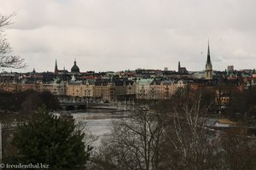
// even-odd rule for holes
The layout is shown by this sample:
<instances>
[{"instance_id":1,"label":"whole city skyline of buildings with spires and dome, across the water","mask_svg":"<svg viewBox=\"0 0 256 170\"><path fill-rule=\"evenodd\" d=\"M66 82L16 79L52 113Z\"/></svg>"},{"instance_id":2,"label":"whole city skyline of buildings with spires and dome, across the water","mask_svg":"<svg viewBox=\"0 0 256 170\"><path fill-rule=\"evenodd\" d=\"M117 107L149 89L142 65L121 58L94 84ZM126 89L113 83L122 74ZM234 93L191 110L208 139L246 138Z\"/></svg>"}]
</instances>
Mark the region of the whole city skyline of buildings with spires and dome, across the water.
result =
<instances>
[{"instance_id":1,"label":"whole city skyline of buildings with spires and dome, across the water","mask_svg":"<svg viewBox=\"0 0 256 170\"><path fill-rule=\"evenodd\" d=\"M35 70L28 73L2 72L0 82L0 89L8 92L34 89L38 92L49 91L58 96L103 101L170 99L173 94L182 93L187 88L209 88L218 84L232 84L238 89L255 86L256 73L254 70L234 71L233 67L228 71L212 71L208 44L205 71L189 72L178 62L177 71L138 69L119 72L80 72L76 60L71 71L65 68L59 70L55 60L54 72L38 73Z\"/></svg>"}]
</instances>

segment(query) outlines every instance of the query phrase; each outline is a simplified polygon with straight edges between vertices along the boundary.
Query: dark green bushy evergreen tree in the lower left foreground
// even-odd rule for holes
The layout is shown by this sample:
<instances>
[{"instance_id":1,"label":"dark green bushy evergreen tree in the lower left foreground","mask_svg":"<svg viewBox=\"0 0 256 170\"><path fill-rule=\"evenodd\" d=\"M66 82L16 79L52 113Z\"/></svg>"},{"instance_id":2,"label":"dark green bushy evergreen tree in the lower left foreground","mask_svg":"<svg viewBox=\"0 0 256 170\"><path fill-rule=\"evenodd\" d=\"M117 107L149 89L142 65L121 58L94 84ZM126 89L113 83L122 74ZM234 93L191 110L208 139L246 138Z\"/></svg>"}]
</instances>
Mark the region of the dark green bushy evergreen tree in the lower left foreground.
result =
<instances>
[{"instance_id":1,"label":"dark green bushy evergreen tree in the lower left foreground","mask_svg":"<svg viewBox=\"0 0 256 170\"><path fill-rule=\"evenodd\" d=\"M83 169L92 147L85 145L88 136L76 126L71 116L54 116L38 110L30 122L20 125L13 144L16 160L23 164L45 163L49 169Z\"/></svg>"}]
</instances>

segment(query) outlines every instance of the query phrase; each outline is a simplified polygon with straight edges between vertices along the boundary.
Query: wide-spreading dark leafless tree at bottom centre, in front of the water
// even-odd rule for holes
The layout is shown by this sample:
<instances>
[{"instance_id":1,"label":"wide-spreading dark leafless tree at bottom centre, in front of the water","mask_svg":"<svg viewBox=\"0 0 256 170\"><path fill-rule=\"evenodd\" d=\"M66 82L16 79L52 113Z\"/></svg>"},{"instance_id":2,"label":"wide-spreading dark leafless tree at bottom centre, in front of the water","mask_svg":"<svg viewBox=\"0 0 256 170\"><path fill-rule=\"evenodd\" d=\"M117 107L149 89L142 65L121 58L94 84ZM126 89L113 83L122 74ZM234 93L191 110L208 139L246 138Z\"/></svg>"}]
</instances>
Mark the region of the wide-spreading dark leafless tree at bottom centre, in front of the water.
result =
<instances>
[{"instance_id":1,"label":"wide-spreading dark leafless tree at bottom centre, in front of the water","mask_svg":"<svg viewBox=\"0 0 256 170\"><path fill-rule=\"evenodd\" d=\"M113 122L94 169L160 169L162 133L160 116L148 110L140 109L129 118Z\"/></svg>"}]
</instances>

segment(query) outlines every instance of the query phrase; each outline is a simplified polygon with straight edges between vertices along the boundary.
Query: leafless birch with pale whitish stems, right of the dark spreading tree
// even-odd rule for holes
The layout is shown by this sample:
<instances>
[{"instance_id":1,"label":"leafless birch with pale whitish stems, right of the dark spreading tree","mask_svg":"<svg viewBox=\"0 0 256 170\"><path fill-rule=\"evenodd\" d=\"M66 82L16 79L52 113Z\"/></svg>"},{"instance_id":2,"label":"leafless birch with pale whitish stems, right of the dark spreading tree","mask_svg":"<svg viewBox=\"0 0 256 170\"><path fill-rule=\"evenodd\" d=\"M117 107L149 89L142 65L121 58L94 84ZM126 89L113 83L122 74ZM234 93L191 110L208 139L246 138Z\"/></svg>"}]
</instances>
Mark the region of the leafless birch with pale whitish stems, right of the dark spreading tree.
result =
<instances>
[{"instance_id":1,"label":"leafless birch with pale whitish stems, right of the dark spreading tree","mask_svg":"<svg viewBox=\"0 0 256 170\"><path fill-rule=\"evenodd\" d=\"M183 111L173 111L166 126L166 139L161 148L165 169L219 169L218 152L212 144L214 134L204 126L207 108L201 106L201 93L183 103Z\"/></svg>"}]
</instances>

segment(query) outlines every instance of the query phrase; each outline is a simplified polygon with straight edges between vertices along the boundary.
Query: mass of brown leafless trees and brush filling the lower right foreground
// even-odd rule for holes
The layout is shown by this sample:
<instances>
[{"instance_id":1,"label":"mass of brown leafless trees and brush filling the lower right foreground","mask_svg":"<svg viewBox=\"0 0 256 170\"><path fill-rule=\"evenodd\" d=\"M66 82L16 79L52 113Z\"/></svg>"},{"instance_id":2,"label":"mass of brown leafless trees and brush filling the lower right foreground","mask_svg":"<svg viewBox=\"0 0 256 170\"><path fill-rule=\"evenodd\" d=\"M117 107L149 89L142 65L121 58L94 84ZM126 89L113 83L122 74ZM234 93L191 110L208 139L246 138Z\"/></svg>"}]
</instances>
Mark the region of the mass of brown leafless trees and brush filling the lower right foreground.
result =
<instances>
[{"instance_id":1,"label":"mass of brown leafless trees and brush filling the lower right foreground","mask_svg":"<svg viewBox=\"0 0 256 170\"><path fill-rule=\"evenodd\" d=\"M203 95L183 96L182 105L164 111L141 108L113 122L90 169L255 169L256 140L243 127L206 128L211 102Z\"/></svg>"}]
</instances>

